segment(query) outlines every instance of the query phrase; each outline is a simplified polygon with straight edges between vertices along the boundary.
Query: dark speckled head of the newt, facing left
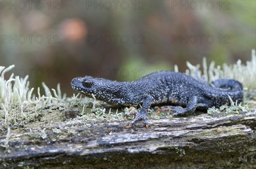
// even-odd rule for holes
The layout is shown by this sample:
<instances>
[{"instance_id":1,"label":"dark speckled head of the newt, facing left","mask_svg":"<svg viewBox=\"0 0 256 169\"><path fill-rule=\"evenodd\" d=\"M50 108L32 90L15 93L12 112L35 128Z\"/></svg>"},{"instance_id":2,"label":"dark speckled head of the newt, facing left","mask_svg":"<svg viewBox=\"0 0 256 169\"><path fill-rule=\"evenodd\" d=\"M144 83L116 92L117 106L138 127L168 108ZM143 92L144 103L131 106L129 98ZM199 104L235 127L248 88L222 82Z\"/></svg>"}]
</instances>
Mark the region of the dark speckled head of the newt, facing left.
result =
<instances>
[{"instance_id":1,"label":"dark speckled head of the newt, facing left","mask_svg":"<svg viewBox=\"0 0 256 169\"><path fill-rule=\"evenodd\" d=\"M120 89L117 83L108 79L84 76L74 78L71 86L86 97L92 98L93 94L96 99L113 104Z\"/></svg>"}]
</instances>

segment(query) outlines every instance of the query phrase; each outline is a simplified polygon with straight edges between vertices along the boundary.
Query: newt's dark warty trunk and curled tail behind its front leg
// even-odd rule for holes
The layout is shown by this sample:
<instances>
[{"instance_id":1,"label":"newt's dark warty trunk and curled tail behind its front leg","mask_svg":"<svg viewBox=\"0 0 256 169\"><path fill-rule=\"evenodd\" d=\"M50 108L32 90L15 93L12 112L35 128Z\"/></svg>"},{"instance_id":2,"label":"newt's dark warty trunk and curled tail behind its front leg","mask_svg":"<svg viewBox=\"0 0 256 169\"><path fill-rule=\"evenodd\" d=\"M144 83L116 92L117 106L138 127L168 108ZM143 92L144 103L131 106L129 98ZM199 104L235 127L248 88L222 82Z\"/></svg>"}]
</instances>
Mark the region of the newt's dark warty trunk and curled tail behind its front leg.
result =
<instances>
[{"instance_id":1,"label":"newt's dark warty trunk and curled tail behind its front leg","mask_svg":"<svg viewBox=\"0 0 256 169\"><path fill-rule=\"evenodd\" d=\"M135 81L135 85L142 86L140 94L148 93L157 104L176 104L186 106L189 98L198 97L207 107L220 107L223 104L230 104L233 101L241 102L243 99L243 85L233 79L217 79L210 85L201 82L192 76L172 71L159 71L148 74Z\"/></svg>"}]
</instances>

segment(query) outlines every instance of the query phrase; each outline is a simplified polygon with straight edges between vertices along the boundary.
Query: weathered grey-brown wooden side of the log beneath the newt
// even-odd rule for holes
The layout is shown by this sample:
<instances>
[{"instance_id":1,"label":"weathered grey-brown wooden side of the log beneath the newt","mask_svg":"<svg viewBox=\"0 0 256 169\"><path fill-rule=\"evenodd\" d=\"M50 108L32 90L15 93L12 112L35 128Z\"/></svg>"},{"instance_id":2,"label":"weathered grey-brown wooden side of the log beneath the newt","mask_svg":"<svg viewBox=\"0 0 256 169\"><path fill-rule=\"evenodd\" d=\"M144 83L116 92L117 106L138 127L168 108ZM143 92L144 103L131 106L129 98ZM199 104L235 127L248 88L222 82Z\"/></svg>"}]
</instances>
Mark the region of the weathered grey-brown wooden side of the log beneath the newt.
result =
<instances>
[{"instance_id":1,"label":"weathered grey-brown wooden side of the log beneath the newt","mask_svg":"<svg viewBox=\"0 0 256 169\"><path fill-rule=\"evenodd\" d=\"M37 125L11 129L9 147L0 147L0 168L256 168L255 110L148 118L148 128L143 121L126 128L125 120L64 121L64 113L48 114Z\"/></svg>"}]
</instances>

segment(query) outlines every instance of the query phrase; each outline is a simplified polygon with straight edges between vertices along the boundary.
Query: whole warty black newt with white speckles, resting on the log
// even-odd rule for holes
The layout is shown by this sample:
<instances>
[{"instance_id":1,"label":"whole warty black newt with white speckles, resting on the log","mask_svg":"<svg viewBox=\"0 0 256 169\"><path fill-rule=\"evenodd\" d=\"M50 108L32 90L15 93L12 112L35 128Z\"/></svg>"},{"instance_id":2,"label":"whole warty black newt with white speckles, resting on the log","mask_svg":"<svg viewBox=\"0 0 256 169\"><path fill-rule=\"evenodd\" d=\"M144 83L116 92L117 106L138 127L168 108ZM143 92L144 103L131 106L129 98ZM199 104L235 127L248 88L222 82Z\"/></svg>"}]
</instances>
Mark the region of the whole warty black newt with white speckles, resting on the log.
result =
<instances>
[{"instance_id":1,"label":"whole warty black newt with white speckles, resting on the log","mask_svg":"<svg viewBox=\"0 0 256 169\"><path fill-rule=\"evenodd\" d=\"M148 127L146 115L154 105L185 107L169 106L168 110L176 112L172 114L175 116L192 113L196 108L206 110L213 106L230 105L228 95L238 103L243 100L243 85L236 80L217 79L208 85L191 76L172 71L154 72L134 82L116 82L91 76L76 77L71 86L87 97L92 98L93 94L96 99L115 106L142 104L142 109L129 127L140 119Z\"/></svg>"}]
</instances>

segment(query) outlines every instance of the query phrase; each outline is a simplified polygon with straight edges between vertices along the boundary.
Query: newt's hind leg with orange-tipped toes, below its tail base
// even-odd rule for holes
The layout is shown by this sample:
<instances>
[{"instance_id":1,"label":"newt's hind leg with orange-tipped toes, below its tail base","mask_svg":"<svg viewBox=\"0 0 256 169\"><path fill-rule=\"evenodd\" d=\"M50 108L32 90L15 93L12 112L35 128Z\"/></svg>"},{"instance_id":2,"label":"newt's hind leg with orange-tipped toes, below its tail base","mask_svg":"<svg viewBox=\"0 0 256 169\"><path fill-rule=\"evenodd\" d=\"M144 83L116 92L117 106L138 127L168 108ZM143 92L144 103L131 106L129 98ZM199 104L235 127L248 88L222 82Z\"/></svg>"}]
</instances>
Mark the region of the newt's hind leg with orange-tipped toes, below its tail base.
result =
<instances>
[{"instance_id":1,"label":"newt's hind leg with orange-tipped toes, below its tail base","mask_svg":"<svg viewBox=\"0 0 256 169\"><path fill-rule=\"evenodd\" d=\"M171 115L171 118L175 115L183 115L183 114L186 114L186 113L192 113L195 111L196 107L197 107L197 97L196 96L193 96L192 98L189 99L189 103L187 104L186 108L182 108L180 106L169 106L168 108L163 108L163 109L160 109L158 112L163 112L163 111L166 111L166 110L169 110L171 112L175 112ZM157 113L158 113L157 112Z\"/></svg>"}]
</instances>

